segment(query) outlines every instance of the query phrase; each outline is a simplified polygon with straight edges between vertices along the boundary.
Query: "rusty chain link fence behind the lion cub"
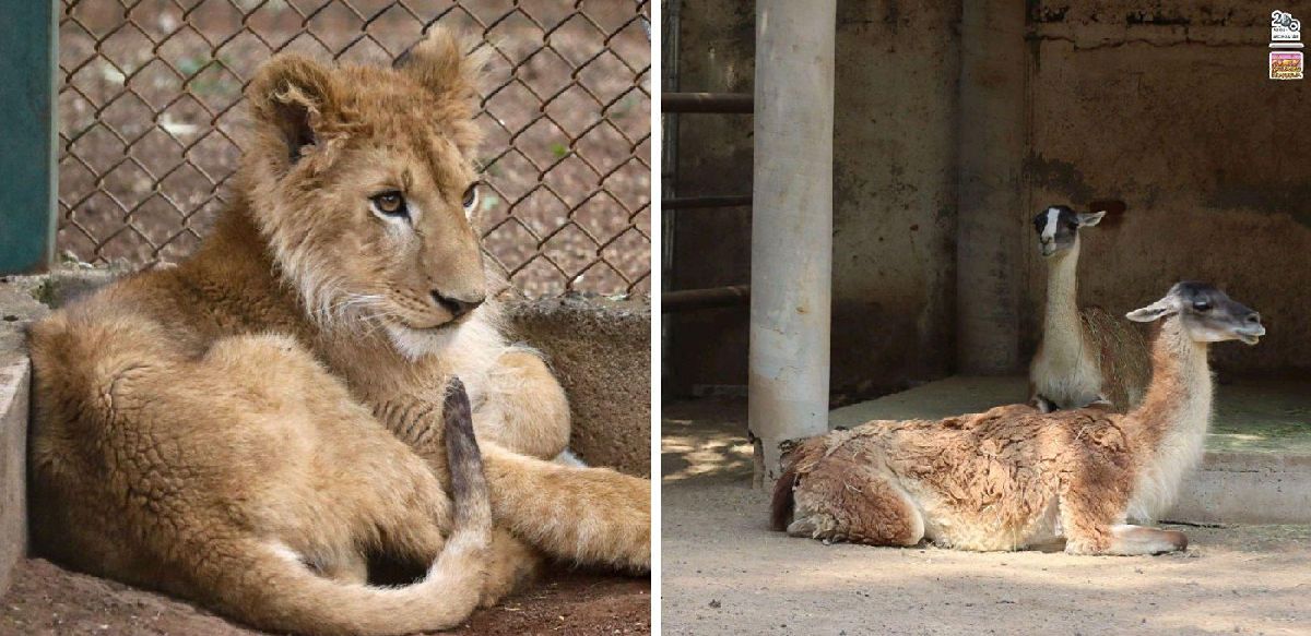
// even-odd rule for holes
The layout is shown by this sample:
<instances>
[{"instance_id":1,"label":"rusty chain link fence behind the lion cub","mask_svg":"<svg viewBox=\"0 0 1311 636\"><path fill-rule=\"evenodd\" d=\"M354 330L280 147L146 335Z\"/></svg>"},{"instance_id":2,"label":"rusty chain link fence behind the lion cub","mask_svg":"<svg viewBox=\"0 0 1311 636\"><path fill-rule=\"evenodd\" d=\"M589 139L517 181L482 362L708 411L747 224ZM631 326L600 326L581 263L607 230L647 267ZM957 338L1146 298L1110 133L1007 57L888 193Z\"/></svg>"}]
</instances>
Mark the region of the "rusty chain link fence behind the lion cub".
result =
<instances>
[{"instance_id":1,"label":"rusty chain link fence behind the lion cub","mask_svg":"<svg viewBox=\"0 0 1311 636\"><path fill-rule=\"evenodd\" d=\"M59 249L176 260L229 196L241 92L281 51L387 64L435 22L493 50L488 256L528 297L649 293L649 1L62 0Z\"/></svg>"}]
</instances>

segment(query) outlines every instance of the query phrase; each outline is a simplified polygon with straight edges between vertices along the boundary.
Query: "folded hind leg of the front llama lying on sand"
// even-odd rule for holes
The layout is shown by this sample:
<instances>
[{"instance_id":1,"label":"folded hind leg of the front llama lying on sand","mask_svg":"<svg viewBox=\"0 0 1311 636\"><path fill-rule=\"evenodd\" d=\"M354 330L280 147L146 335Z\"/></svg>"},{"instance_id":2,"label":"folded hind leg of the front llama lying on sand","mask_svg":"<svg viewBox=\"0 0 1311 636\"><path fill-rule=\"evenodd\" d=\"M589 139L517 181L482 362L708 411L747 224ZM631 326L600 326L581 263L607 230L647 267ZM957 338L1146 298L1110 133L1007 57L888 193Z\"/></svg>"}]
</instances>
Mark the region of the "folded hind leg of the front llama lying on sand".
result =
<instances>
[{"instance_id":1,"label":"folded hind leg of the front llama lying on sand","mask_svg":"<svg viewBox=\"0 0 1311 636\"><path fill-rule=\"evenodd\" d=\"M868 466L830 455L796 486L788 534L872 546L914 546L924 520L901 487Z\"/></svg>"}]
</instances>

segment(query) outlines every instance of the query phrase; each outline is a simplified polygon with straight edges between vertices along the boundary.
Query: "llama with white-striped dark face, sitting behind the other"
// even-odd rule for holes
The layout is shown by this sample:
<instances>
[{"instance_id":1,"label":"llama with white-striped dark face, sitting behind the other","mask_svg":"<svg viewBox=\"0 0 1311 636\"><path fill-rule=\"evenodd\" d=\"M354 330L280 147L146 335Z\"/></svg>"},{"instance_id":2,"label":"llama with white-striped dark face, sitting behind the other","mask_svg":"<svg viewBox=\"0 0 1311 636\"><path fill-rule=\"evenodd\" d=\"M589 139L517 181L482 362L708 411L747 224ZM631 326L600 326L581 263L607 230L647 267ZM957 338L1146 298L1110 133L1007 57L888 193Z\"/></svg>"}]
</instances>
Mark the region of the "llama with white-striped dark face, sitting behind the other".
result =
<instances>
[{"instance_id":1,"label":"llama with white-striped dark face, sitting behind the other","mask_svg":"<svg viewBox=\"0 0 1311 636\"><path fill-rule=\"evenodd\" d=\"M1076 300L1079 228L1105 215L1053 205L1033 217L1049 260L1042 343L1029 365L1029 400L1042 412L1095 403L1125 412L1147 387L1151 360L1142 334L1103 309L1079 309Z\"/></svg>"}]
</instances>

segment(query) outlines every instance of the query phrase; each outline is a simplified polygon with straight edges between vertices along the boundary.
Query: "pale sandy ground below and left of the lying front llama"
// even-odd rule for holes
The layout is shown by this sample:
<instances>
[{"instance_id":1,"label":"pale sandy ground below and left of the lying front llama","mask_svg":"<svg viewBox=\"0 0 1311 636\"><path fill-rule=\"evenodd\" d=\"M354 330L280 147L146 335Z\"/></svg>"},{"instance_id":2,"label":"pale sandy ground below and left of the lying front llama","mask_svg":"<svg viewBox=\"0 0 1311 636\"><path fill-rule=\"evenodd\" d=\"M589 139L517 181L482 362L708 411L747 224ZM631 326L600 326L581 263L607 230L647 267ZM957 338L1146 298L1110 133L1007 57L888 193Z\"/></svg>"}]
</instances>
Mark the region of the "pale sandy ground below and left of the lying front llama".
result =
<instances>
[{"instance_id":1,"label":"pale sandy ground below and left of the lying front llama","mask_svg":"<svg viewBox=\"0 0 1311 636\"><path fill-rule=\"evenodd\" d=\"M1158 557L873 548L767 530L741 403L665 410L671 635L1311 635L1311 527L1180 527Z\"/></svg>"}]
</instances>

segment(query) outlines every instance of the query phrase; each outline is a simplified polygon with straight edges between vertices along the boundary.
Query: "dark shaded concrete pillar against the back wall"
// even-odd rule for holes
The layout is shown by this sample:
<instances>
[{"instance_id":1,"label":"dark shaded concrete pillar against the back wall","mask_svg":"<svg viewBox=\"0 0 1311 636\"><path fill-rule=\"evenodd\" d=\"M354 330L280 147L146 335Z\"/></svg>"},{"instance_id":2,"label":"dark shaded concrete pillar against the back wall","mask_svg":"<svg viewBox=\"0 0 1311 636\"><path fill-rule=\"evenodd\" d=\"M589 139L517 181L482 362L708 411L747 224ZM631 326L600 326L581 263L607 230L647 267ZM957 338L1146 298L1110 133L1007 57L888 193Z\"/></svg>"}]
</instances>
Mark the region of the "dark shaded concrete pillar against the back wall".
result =
<instances>
[{"instance_id":1,"label":"dark shaded concrete pillar against the back wall","mask_svg":"<svg viewBox=\"0 0 1311 636\"><path fill-rule=\"evenodd\" d=\"M957 370L1013 373L1020 360L1025 153L1025 3L962 3Z\"/></svg>"}]
</instances>

